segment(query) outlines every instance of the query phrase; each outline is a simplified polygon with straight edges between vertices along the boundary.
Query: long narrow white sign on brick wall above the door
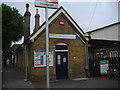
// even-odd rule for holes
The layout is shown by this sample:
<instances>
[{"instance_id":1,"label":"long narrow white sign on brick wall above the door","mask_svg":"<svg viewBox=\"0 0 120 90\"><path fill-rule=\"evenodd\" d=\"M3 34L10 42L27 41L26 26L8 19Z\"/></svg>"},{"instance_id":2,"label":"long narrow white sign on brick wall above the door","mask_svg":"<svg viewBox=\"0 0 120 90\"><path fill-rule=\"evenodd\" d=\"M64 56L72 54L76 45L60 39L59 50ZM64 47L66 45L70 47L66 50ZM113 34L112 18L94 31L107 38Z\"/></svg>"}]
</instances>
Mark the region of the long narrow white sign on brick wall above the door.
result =
<instances>
[{"instance_id":1,"label":"long narrow white sign on brick wall above the door","mask_svg":"<svg viewBox=\"0 0 120 90\"><path fill-rule=\"evenodd\" d=\"M76 35L72 35L72 34L49 34L49 38L76 39Z\"/></svg>"}]
</instances>

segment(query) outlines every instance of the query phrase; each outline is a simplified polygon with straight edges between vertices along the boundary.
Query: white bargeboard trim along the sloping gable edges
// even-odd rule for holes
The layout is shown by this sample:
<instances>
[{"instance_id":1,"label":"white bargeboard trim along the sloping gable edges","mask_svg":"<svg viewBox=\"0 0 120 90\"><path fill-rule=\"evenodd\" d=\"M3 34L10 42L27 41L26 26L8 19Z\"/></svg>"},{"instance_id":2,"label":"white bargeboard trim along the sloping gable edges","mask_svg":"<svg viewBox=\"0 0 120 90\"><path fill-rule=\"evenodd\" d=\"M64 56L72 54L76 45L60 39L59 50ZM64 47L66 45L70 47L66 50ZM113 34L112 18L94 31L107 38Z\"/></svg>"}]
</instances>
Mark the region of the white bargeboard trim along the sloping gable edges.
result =
<instances>
[{"instance_id":1,"label":"white bargeboard trim along the sloping gable edges","mask_svg":"<svg viewBox=\"0 0 120 90\"><path fill-rule=\"evenodd\" d=\"M68 16L68 14L63 10L60 9L49 21L48 24L50 24L61 12L70 20L70 22L76 27L76 29L84 36L83 32L80 30L80 28L73 22L73 20ZM35 37L41 33L45 29L45 24L30 38L30 40L34 41Z\"/></svg>"}]
</instances>

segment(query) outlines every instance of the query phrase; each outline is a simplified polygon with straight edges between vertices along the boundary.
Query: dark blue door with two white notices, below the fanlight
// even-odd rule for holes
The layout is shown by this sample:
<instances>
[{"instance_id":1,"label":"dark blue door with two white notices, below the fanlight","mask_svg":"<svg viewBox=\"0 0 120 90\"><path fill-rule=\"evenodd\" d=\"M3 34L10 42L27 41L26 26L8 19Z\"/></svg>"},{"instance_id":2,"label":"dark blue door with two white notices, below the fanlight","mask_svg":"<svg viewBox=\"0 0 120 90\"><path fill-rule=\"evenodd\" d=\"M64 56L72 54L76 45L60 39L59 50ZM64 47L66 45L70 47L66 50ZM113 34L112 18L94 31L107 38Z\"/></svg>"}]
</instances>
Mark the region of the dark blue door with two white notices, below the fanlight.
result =
<instances>
[{"instance_id":1,"label":"dark blue door with two white notices, below the fanlight","mask_svg":"<svg viewBox=\"0 0 120 90\"><path fill-rule=\"evenodd\" d=\"M56 78L68 78L68 52L56 52Z\"/></svg>"}]
</instances>

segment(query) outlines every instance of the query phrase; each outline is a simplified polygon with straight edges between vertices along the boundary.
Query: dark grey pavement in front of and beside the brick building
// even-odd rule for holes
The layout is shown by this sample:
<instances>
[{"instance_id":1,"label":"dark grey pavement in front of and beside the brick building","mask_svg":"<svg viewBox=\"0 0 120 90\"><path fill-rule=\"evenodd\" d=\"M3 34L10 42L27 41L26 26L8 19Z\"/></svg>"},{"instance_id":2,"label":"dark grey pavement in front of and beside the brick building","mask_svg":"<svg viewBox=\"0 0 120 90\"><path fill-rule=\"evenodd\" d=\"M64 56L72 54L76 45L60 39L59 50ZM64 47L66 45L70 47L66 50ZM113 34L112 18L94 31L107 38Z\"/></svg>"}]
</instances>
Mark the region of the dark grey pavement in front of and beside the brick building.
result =
<instances>
[{"instance_id":1,"label":"dark grey pavement in front of and beside the brick building","mask_svg":"<svg viewBox=\"0 0 120 90\"><path fill-rule=\"evenodd\" d=\"M45 82L24 81L24 73L16 67L3 68L3 89L5 88L46 88ZM50 82L50 88L119 88L120 80L107 77L77 78Z\"/></svg>"}]
</instances>

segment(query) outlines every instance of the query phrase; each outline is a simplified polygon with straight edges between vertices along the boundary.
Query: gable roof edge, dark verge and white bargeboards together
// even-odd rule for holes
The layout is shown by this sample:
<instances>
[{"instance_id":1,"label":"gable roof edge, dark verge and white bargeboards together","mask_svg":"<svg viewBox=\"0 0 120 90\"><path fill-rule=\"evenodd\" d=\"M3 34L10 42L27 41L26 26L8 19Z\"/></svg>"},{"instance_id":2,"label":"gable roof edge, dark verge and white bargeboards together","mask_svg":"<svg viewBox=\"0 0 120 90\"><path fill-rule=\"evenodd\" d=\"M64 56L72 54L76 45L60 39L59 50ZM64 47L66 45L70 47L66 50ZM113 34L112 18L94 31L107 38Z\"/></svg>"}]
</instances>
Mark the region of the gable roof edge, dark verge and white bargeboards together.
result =
<instances>
[{"instance_id":1,"label":"gable roof edge, dark verge and white bargeboards together","mask_svg":"<svg viewBox=\"0 0 120 90\"><path fill-rule=\"evenodd\" d=\"M61 6L58 10L56 10L48 19L48 23L50 24L60 13L63 13L68 20L75 26L75 28L81 33L84 37L84 32L79 27L79 25L72 19L72 17L67 13L67 11ZM34 38L40 34L45 29L45 22L32 34L28 39L34 40Z\"/></svg>"}]
</instances>

